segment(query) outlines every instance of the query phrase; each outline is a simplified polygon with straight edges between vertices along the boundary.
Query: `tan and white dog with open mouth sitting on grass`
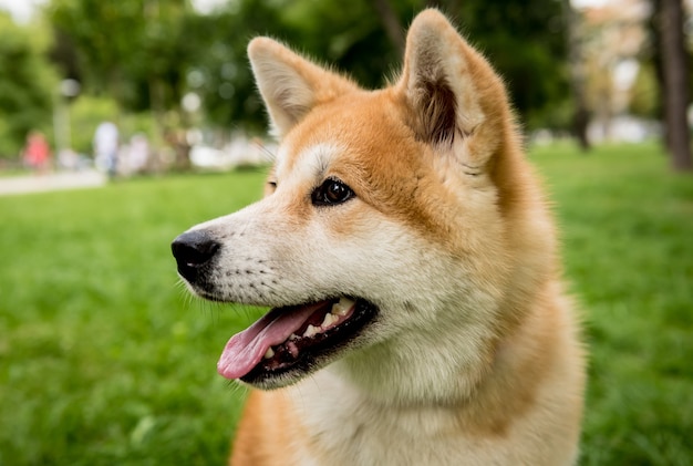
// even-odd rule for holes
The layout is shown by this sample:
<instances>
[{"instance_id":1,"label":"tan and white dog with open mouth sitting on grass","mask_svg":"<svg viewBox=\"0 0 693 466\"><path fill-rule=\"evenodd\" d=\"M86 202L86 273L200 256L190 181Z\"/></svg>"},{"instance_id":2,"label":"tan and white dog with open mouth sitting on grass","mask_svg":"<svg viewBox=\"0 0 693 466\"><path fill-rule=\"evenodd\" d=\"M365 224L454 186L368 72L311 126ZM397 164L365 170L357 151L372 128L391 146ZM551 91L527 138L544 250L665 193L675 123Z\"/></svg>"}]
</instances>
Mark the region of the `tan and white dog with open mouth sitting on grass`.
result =
<instances>
[{"instance_id":1,"label":"tan and white dog with open mouth sitting on grass","mask_svg":"<svg viewBox=\"0 0 693 466\"><path fill-rule=\"evenodd\" d=\"M271 308L218 362L252 389L231 464L575 464L579 322L492 66L436 10L382 90L248 53L266 196L172 245L197 296Z\"/></svg>"}]
</instances>

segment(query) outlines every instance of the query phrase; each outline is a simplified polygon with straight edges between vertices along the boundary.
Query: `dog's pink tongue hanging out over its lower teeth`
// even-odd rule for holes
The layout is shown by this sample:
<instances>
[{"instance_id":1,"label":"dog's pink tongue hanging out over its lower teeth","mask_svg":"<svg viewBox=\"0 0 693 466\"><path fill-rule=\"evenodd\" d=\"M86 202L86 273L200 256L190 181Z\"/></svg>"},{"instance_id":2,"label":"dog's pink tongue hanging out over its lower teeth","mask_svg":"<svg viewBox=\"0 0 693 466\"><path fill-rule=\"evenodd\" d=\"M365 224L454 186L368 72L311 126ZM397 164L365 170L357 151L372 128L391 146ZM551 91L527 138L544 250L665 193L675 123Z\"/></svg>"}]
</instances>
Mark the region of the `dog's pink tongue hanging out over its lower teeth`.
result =
<instances>
[{"instance_id":1,"label":"dog's pink tongue hanging out over its lower teeth","mask_svg":"<svg viewBox=\"0 0 693 466\"><path fill-rule=\"evenodd\" d=\"M262 360L271 345L287 341L313 312L328 303L272 309L250 328L231 336L219 358L217 371L226 379L242 377Z\"/></svg>"}]
</instances>

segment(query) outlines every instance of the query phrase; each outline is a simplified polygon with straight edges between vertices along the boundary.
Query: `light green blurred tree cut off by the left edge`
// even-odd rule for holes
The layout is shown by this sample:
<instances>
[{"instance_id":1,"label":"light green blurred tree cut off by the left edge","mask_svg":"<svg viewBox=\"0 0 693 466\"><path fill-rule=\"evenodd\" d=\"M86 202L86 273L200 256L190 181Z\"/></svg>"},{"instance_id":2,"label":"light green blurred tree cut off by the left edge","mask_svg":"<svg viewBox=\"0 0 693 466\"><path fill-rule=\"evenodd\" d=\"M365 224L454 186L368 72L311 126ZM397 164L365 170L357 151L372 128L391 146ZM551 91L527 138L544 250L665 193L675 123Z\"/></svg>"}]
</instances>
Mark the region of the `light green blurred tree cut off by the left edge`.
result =
<instances>
[{"instance_id":1,"label":"light green blurred tree cut off by the left edge","mask_svg":"<svg viewBox=\"0 0 693 466\"><path fill-rule=\"evenodd\" d=\"M49 137L58 82L44 58L48 39L35 24L0 12L0 157L17 157L31 130Z\"/></svg>"}]
</instances>

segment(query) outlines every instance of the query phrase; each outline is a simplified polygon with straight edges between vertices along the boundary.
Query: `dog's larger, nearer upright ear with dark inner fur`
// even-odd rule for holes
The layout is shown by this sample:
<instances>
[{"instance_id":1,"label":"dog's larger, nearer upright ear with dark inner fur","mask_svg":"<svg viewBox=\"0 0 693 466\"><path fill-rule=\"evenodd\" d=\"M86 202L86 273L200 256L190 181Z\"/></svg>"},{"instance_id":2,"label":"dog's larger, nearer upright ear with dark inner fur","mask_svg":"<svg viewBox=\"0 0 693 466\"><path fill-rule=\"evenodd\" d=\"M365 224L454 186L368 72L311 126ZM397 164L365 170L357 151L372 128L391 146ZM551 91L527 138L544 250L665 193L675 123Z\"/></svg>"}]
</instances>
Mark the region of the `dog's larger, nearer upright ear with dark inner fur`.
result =
<instances>
[{"instance_id":1,"label":"dog's larger, nearer upright ear with dark inner fur","mask_svg":"<svg viewBox=\"0 0 693 466\"><path fill-rule=\"evenodd\" d=\"M475 166L488 162L511 121L500 79L437 10L410 27L397 91L420 139L455 147Z\"/></svg>"}]
</instances>

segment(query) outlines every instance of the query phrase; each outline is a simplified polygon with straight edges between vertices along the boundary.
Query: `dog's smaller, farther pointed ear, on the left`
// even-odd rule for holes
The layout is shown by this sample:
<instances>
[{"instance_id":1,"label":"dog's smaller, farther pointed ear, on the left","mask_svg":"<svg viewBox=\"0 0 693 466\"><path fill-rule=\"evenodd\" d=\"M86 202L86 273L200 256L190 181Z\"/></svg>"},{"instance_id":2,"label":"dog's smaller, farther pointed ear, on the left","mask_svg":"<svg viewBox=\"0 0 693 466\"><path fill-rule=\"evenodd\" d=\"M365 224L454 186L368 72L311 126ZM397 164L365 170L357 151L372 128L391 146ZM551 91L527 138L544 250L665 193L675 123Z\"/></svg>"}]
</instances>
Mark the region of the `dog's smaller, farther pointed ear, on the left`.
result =
<instances>
[{"instance_id":1,"label":"dog's smaller, farther pointed ear, on the left","mask_svg":"<svg viewBox=\"0 0 693 466\"><path fill-rule=\"evenodd\" d=\"M282 137L311 108L356 85L303 59L279 42L256 38L248 56L276 136Z\"/></svg>"}]
</instances>

